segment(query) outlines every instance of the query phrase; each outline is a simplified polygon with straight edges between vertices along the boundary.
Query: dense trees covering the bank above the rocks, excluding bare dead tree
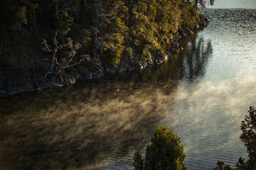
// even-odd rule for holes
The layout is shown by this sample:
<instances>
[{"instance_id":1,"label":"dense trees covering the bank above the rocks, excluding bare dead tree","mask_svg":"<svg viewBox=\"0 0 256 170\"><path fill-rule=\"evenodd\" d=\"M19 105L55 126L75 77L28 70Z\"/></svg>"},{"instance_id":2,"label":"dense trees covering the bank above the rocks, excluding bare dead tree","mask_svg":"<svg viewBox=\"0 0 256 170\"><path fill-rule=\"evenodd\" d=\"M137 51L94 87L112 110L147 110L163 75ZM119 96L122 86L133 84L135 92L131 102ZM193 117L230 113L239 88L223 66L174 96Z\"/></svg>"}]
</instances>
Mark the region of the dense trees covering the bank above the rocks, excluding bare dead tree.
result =
<instances>
[{"instance_id":1,"label":"dense trees covering the bank above the rocks, excluding bare dead tree","mask_svg":"<svg viewBox=\"0 0 256 170\"><path fill-rule=\"evenodd\" d=\"M1 0L0 4L2 88L17 80L14 75L35 79L48 72L48 63L42 61L48 53L40 43L46 39L53 46L55 33L63 47L66 38L79 42L78 60L80 55L90 56L80 70L100 65L105 71L121 60L146 61L168 52L178 30L193 28L203 18L197 8L203 1L198 0ZM58 50L58 61L68 60L68 52Z\"/></svg>"}]
</instances>

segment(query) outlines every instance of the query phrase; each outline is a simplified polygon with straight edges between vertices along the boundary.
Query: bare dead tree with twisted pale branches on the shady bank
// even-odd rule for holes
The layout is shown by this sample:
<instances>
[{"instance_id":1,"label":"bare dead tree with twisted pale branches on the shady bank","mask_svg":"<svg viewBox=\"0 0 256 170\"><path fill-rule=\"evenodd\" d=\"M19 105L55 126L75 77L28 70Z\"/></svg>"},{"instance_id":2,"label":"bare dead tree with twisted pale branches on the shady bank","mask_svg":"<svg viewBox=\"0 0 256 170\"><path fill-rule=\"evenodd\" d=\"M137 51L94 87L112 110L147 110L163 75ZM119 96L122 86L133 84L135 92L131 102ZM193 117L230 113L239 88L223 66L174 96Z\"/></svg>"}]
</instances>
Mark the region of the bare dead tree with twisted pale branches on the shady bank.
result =
<instances>
[{"instance_id":1,"label":"bare dead tree with twisted pale branches on the shady bank","mask_svg":"<svg viewBox=\"0 0 256 170\"><path fill-rule=\"evenodd\" d=\"M76 52L80 49L80 47L82 47L82 45L79 42L76 42L75 45L73 45L73 40L67 38L67 42L65 45L58 46L57 32L55 33L55 36L53 38L53 50L51 50L51 47L47 44L46 40L43 40L41 44L43 45L42 49L44 51L52 53L51 60L47 58L43 59L43 61L48 61L50 63L50 71L45 74L45 79L48 76L48 74L53 74L59 75L61 81L63 81L63 69L66 69L68 67L74 67L83 62L84 60L90 61L89 55L82 55L80 60L78 60L77 57L75 57ZM58 62L56 53L58 50L63 49L63 47L67 47L68 49L70 49L70 52L68 52L68 57L65 60L63 60L62 62Z\"/></svg>"}]
</instances>

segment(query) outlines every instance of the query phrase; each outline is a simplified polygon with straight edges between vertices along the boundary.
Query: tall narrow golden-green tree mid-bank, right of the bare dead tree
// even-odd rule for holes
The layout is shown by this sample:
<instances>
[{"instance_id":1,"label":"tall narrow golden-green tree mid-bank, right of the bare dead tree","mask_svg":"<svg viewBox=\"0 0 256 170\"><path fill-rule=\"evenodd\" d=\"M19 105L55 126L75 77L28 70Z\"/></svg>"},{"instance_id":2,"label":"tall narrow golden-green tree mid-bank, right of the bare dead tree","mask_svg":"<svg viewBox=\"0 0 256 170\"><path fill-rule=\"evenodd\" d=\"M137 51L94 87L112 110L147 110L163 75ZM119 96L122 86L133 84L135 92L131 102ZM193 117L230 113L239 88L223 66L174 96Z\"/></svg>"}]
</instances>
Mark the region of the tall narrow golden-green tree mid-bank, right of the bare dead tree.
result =
<instances>
[{"instance_id":1,"label":"tall narrow golden-green tree mid-bank, right of the bare dead tree","mask_svg":"<svg viewBox=\"0 0 256 170\"><path fill-rule=\"evenodd\" d=\"M122 1L105 2L105 8L100 8L100 36L97 47L102 52L103 59L110 67L117 67L124 50L124 35L127 26L124 24L124 13L127 7ZM104 13L104 14L103 14Z\"/></svg>"}]
</instances>

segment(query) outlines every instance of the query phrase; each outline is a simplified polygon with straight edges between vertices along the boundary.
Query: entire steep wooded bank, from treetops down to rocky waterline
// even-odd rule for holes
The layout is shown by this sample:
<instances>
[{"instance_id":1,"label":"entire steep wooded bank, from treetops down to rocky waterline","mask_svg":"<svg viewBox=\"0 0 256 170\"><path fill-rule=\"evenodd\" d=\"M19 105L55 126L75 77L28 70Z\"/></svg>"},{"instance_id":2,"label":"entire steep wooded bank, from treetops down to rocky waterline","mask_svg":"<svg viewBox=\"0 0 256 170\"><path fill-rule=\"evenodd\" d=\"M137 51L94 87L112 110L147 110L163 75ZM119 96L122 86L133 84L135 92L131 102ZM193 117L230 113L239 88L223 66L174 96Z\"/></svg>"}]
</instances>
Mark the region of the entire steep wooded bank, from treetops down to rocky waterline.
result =
<instances>
[{"instance_id":1,"label":"entire steep wooded bank, from treetops down to rocky waterline","mask_svg":"<svg viewBox=\"0 0 256 170\"><path fill-rule=\"evenodd\" d=\"M0 96L161 64L182 49L178 40L208 23L193 2L180 0L17 0L3 6L1 21L6 24L1 26L5 36L0 40ZM15 15L9 17L11 13ZM52 39L57 32L55 45ZM67 38L74 45L67 47ZM49 44L48 52L42 50L43 39ZM78 52L73 49L76 43ZM52 60L57 44L56 62L50 64L47 61ZM70 52L75 56L74 67L67 62ZM77 65L75 61L85 55L88 60ZM68 63L68 69L58 69L63 63Z\"/></svg>"}]
</instances>

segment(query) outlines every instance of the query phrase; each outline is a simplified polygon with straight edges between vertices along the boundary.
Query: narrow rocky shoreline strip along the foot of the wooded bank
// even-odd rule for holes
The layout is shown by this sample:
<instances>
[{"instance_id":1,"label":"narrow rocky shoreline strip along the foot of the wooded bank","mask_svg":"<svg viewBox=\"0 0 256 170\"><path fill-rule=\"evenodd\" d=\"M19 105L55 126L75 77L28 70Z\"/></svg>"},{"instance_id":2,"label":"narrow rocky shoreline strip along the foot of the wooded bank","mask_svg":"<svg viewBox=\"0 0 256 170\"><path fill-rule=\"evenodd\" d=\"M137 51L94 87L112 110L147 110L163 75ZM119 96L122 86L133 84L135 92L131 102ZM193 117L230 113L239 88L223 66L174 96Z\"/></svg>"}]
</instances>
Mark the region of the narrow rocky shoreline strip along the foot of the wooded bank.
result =
<instances>
[{"instance_id":1,"label":"narrow rocky shoreline strip along the foot of the wooded bank","mask_svg":"<svg viewBox=\"0 0 256 170\"><path fill-rule=\"evenodd\" d=\"M65 86L68 84L74 84L75 81L79 79L95 79L98 77L102 77L106 74L114 74L119 72L127 72L134 69L145 69L146 67L151 66L152 64L161 64L169 59L171 55L174 55L180 52L183 48L178 44L178 41L184 38L187 35L193 34L193 31L197 30L200 27L206 27L208 25L207 18L201 16L201 21L199 21L196 26L188 30L178 30L178 35L173 38L171 42L171 47L162 55L152 55L150 60L146 61L134 61L134 60L122 60L119 62L116 68L103 68L102 65L99 65L94 69L82 69L78 70L73 74L65 74L63 77L63 81L60 81L58 77L52 77L51 79L44 79L43 74L36 75L34 69L31 71L31 74L27 77L18 77L16 75L16 79L20 80L18 85L9 86L3 88L0 86L0 97L10 96L13 94L18 94L22 92L28 91L37 91L48 88L55 88L60 86ZM37 77L36 81L31 79L30 77ZM38 81L40 80L40 81ZM1 82L0 82L1 83Z\"/></svg>"}]
</instances>

